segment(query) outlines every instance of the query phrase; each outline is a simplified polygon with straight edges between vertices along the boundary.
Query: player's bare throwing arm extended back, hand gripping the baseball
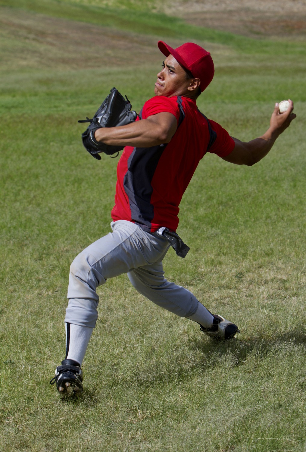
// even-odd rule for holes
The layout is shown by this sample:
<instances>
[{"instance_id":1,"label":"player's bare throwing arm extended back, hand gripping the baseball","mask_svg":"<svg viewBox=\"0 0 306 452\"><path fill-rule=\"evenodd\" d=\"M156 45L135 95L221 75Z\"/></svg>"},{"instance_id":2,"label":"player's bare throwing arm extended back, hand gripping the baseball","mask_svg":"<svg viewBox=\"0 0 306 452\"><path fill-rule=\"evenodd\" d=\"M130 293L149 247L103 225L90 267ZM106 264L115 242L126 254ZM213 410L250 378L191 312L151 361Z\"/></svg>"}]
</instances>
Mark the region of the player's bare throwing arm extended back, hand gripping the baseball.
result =
<instances>
[{"instance_id":1,"label":"player's bare throwing arm extended back, hand gripping the baseball","mask_svg":"<svg viewBox=\"0 0 306 452\"><path fill-rule=\"evenodd\" d=\"M282 114L279 113L279 105L275 104L270 119L270 127L267 132L261 137L248 142L243 142L232 137L235 141L235 147L231 154L222 157L223 160L236 165L248 166L252 166L259 162L259 160L263 159L264 156L268 154L279 135L289 127L292 119L296 118L297 115L292 113L292 110L292 100L289 100L289 108Z\"/></svg>"}]
</instances>

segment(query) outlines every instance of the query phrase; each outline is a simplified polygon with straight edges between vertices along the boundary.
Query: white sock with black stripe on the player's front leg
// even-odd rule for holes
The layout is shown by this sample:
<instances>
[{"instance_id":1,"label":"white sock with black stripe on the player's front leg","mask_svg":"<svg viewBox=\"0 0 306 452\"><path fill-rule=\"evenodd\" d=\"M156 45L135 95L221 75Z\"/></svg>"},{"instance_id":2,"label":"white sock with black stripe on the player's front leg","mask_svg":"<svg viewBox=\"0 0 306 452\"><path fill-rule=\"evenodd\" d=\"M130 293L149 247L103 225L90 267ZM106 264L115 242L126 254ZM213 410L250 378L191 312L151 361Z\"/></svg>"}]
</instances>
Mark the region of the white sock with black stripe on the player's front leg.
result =
<instances>
[{"instance_id":1,"label":"white sock with black stripe on the player's front leg","mask_svg":"<svg viewBox=\"0 0 306 452\"><path fill-rule=\"evenodd\" d=\"M66 326L66 359L73 359L82 365L93 328L65 323Z\"/></svg>"}]
</instances>

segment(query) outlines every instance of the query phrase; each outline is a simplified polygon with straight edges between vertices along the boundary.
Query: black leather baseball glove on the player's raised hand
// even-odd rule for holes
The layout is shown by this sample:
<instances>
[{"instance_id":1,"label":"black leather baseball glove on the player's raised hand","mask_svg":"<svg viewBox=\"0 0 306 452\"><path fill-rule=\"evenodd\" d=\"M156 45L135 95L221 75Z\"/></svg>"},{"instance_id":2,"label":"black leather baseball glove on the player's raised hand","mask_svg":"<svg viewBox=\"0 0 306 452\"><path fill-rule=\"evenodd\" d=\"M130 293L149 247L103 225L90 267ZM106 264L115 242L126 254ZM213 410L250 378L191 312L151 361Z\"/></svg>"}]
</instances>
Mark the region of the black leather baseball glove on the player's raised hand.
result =
<instances>
[{"instance_id":1,"label":"black leather baseball glove on the player's raised hand","mask_svg":"<svg viewBox=\"0 0 306 452\"><path fill-rule=\"evenodd\" d=\"M125 96L127 99L127 96ZM131 111L132 105L130 101L125 100L118 89L112 88L107 98L99 107L92 119L86 118L79 122L90 122L84 133L82 133L82 140L85 148L95 159L101 160L100 152L112 155L115 152L122 151L124 146L110 146L98 142L94 138L94 132L100 127L118 127L125 126L130 122L134 122L137 118L137 113ZM115 155L115 157L117 157Z\"/></svg>"}]
</instances>

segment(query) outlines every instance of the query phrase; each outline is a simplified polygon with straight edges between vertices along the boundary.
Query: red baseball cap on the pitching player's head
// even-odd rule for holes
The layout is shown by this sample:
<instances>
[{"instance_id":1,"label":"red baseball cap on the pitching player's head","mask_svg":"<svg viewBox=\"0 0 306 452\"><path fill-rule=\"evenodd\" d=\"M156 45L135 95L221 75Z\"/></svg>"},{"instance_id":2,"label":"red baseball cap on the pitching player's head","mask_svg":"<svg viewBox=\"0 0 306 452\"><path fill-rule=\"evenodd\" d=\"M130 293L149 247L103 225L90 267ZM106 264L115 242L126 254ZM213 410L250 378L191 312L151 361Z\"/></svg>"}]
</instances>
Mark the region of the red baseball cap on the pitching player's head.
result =
<instances>
[{"instance_id":1,"label":"red baseball cap on the pitching player's head","mask_svg":"<svg viewBox=\"0 0 306 452\"><path fill-rule=\"evenodd\" d=\"M192 73L194 78L200 79L200 89L204 91L205 88L212 81L215 73L212 57L203 47L194 44L193 42L186 42L180 47L173 49L163 41L157 43L160 52L165 56L170 54L174 56L184 69Z\"/></svg>"}]
</instances>

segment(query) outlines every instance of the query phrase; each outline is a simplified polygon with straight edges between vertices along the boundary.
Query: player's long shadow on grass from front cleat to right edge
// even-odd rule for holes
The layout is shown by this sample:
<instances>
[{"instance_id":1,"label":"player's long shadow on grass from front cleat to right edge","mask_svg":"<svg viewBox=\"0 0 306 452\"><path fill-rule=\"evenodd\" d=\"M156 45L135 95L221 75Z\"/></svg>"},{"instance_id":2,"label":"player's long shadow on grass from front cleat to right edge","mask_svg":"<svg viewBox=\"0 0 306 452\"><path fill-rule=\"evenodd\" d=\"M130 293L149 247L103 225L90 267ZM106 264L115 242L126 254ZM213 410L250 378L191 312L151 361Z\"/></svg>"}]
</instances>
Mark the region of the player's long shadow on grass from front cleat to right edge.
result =
<instances>
[{"instance_id":1,"label":"player's long shadow on grass from front cleat to right edge","mask_svg":"<svg viewBox=\"0 0 306 452\"><path fill-rule=\"evenodd\" d=\"M124 370L112 362L96 362L88 369L94 384L85 386L80 397L68 397L62 401L93 407L101 401L101 390L104 399L108 399L113 391L124 397L127 390L175 385L192 379L195 372L202 372L222 363L226 363L226 368L242 366L250 356L262 360L284 349L293 350L294 347L305 344L306 330L303 328L280 334L269 334L267 331L248 339L240 340L238 337L231 341L216 341L196 335L190 337L181 348L173 349L166 358L155 355L154 348L151 348L148 356L142 356L132 366L125 366ZM186 346L191 353L186 353Z\"/></svg>"}]
</instances>

